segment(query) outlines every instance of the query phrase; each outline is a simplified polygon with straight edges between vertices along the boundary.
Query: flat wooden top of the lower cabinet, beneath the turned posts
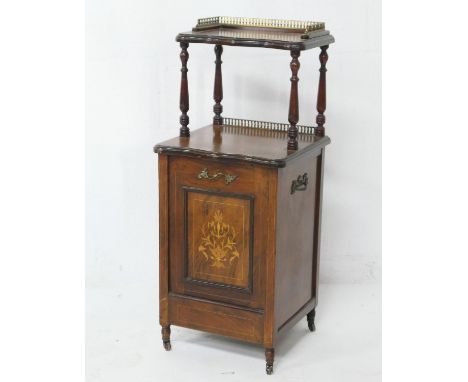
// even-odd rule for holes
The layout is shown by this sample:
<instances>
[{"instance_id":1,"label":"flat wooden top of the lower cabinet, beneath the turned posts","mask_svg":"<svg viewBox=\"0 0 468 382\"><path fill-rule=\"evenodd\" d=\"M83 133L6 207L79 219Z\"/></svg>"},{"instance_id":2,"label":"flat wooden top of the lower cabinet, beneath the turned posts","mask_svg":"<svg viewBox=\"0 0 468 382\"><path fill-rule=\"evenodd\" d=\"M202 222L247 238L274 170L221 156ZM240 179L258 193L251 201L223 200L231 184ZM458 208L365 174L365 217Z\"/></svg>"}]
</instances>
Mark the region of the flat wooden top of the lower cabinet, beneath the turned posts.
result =
<instances>
[{"instance_id":1,"label":"flat wooden top of the lower cabinet, beneath the turned posts","mask_svg":"<svg viewBox=\"0 0 468 382\"><path fill-rule=\"evenodd\" d=\"M176 137L154 147L157 153L220 158L284 167L286 162L330 143L327 136L298 134L299 148L288 152L286 131L274 131L231 125L208 125L191 130L190 137Z\"/></svg>"}]
</instances>

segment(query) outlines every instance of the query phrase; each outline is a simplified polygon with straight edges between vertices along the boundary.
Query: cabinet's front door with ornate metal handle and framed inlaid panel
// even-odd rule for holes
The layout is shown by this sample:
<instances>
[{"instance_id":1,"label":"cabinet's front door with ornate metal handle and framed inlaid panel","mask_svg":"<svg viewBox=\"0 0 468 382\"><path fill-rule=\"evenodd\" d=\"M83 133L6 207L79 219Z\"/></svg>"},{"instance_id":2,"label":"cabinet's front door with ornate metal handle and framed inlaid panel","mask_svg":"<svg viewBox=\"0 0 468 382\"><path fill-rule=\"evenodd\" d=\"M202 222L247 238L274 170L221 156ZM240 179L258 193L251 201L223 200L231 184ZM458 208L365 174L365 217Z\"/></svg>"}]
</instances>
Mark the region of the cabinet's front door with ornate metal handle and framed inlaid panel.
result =
<instances>
[{"instance_id":1,"label":"cabinet's front door with ornate metal handle and framed inlaid panel","mask_svg":"<svg viewBox=\"0 0 468 382\"><path fill-rule=\"evenodd\" d=\"M263 308L269 171L170 160L170 291Z\"/></svg>"}]
</instances>

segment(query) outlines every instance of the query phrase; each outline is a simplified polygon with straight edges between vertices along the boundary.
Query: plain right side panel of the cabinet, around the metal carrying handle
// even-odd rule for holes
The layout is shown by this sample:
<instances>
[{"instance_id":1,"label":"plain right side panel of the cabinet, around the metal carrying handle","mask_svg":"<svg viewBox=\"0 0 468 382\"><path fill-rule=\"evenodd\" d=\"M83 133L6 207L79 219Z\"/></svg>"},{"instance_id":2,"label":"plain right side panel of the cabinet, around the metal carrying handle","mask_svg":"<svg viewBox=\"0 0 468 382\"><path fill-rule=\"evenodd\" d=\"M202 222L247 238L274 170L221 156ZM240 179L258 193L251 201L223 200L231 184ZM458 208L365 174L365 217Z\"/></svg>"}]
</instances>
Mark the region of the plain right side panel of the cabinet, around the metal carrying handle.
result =
<instances>
[{"instance_id":1,"label":"plain right side panel of the cabinet, around the metal carrying handle","mask_svg":"<svg viewBox=\"0 0 468 382\"><path fill-rule=\"evenodd\" d=\"M292 192L298 177L307 185ZM317 157L302 155L279 170L276 223L275 327L312 300Z\"/></svg>"}]
</instances>

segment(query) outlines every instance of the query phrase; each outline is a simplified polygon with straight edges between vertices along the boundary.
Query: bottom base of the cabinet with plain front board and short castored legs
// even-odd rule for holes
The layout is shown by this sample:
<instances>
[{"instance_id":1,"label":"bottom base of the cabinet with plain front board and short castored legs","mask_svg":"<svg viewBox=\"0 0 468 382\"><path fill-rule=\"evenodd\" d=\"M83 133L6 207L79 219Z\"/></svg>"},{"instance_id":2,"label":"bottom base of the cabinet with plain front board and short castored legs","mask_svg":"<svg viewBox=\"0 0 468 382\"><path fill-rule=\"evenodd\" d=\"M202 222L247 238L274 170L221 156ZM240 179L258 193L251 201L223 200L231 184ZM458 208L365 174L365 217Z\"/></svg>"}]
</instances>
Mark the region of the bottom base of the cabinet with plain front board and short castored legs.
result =
<instances>
[{"instance_id":1,"label":"bottom base of the cabinet with plain front board and short castored legs","mask_svg":"<svg viewBox=\"0 0 468 382\"><path fill-rule=\"evenodd\" d=\"M311 303L315 303L315 299ZM307 304L307 306L310 306L310 304ZM294 322L297 322L302 318L303 314L304 309L301 309L291 318L294 318ZM309 330L311 332L315 331L315 308L308 312L306 317ZM256 344L264 344L264 312L260 309L235 307L196 297L170 294L169 318L171 325L219 334ZM284 327L285 325L279 331ZM170 325L162 326L161 334L164 349L171 350ZM275 349L265 347L267 374L273 373L274 359Z\"/></svg>"}]
</instances>

